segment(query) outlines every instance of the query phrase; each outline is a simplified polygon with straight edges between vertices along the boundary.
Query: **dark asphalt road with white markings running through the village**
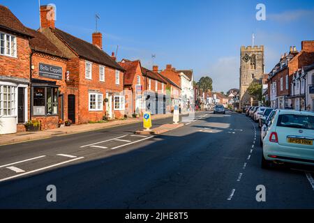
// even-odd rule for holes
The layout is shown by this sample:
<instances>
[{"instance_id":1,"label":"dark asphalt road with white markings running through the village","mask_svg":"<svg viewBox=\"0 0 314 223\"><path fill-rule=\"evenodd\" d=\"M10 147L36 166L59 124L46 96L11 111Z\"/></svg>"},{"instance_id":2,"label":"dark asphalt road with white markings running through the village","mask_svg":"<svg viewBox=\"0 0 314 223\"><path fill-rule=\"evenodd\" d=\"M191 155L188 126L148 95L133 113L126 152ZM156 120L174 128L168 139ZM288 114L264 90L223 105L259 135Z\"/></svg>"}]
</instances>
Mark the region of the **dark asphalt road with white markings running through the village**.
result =
<instances>
[{"instance_id":1,"label":"dark asphalt road with white markings running through the village","mask_svg":"<svg viewBox=\"0 0 314 223\"><path fill-rule=\"evenodd\" d=\"M261 169L260 132L243 114L201 112L153 137L139 128L0 146L0 208L314 208L311 169Z\"/></svg>"}]
</instances>

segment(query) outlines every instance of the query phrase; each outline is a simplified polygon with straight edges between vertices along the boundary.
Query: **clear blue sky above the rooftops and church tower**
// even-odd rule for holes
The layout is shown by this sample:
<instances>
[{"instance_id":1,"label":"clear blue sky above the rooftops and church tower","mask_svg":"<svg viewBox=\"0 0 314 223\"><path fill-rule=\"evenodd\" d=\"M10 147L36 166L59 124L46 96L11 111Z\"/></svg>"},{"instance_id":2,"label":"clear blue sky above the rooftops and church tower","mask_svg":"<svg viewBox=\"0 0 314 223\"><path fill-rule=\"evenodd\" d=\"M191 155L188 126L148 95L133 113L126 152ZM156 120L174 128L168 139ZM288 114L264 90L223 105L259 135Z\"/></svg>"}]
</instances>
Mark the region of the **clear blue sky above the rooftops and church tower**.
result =
<instances>
[{"instance_id":1,"label":"clear blue sky above the rooftops and church tower","mask_svg":"<svg viewBox=\"0 0 314 223\"><path fill-rule=\"evenodd\" d=\"M205 1L205 0L40 0L57 6L56 26L91 42L95 13L103 47L118 60L140 59L151 68L193 69L195 79L208 75L214 91L239 88L241 45L265 47L265 72L290 45L314 38L314 1ZM39 27L38 0L0 0L33 29ZM257 21L255 6L264 3L266 21Z\"/></svg>"}]
</instances>

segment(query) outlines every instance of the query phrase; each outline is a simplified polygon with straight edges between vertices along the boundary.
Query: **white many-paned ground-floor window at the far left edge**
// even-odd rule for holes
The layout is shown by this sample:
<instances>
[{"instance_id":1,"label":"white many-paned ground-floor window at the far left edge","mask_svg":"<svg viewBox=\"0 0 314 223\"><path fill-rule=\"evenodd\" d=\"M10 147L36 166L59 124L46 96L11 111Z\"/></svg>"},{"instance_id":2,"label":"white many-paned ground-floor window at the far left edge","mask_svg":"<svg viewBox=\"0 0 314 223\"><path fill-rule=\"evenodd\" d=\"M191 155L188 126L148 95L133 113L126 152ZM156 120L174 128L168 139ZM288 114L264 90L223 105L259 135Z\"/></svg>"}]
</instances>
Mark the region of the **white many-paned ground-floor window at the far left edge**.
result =
<instances>
[{"instance_id":1,"label":"white many-paned ground-floor window at the far left edge","mask_svg":"<svg viewBox=\"0 0 314 223\"><path fill-rule=\"evenodd\" d=\"M15 116L15 86L0 85L0 116Z\"/></svg>"}]
</instances>

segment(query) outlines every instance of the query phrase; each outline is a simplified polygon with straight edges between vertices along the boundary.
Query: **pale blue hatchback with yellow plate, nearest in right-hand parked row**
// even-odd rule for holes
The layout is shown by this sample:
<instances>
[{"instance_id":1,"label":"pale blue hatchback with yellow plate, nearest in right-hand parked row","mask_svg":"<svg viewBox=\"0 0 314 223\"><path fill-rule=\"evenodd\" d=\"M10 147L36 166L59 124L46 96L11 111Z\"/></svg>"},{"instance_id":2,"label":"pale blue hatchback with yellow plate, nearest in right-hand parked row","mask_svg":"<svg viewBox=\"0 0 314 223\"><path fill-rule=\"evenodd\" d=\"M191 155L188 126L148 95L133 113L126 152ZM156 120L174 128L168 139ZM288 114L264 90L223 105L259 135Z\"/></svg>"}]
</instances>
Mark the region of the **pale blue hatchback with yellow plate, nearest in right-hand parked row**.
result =
<instances>
[{"instance_id":1,"label":"pale blue hatchback with yellow plate, nearest in right-hand parked row","mask_svg":"<svg viewBox=\"0 0 314 223\"><path fill-rule=\"evenodd\" d=\"M274 162L314 165L314 113L278 110L263 140L262 168Z\"/></svg>"}]
</instances>

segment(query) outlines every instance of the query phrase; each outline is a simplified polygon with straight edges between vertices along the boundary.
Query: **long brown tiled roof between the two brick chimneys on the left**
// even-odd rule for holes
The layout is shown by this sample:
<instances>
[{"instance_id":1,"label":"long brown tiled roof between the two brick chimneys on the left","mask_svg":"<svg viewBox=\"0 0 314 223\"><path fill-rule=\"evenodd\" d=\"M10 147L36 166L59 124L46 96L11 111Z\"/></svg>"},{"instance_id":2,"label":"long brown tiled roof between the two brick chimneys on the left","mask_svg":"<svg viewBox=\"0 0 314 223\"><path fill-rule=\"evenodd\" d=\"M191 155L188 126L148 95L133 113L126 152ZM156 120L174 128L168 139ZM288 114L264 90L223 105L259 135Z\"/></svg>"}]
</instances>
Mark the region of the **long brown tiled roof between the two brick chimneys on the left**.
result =
<instances>
[{"instance_id":1,"label":"long brown tiled roof between the two brick chimneys on the left","mask_svg":"<svg viewBox=\"0 0 314 223\"><path fill-rule=\"evenodd\" d=\"M96 62L101 65L108 66L110 68L115 68L117 70L124 71L116 61L114 61L111 56L106 54L102 49L88 43L85 40L81 40L75 36L70 35L60 29L51 29L61 40L63 40L74 52L76 52L80 57L87 59L91 62Z\"/></svg>"}]
</instances>

